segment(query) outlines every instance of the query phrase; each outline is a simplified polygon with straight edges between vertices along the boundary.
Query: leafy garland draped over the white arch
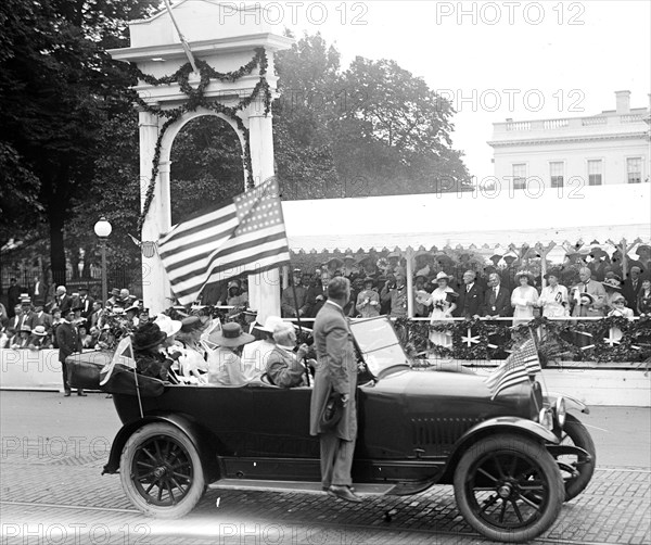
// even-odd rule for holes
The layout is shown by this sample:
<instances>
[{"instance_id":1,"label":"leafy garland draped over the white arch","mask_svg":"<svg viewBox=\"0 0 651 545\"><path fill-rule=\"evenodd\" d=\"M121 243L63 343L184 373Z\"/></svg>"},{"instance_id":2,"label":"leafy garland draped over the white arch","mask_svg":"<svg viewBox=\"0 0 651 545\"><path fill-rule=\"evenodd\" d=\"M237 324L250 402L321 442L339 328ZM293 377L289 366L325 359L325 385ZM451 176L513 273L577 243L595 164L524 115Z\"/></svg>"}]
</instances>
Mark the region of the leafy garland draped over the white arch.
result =
<instances>
[{"instance_id":1,"label":"leafy garland draped over the white arch","mask_svg":"<svg viewBox=\"0 0 651 545\"><path fill-rule=\"evenodd\" d=\"M152 106L148 104L138 94L138 92L131 90L133 101L145 112L156 115L158 117L165 117L166 122L161 127L158 132L158 138L156 139L156 145L154 149L154 157L152 160L152 173L150 176L150 180L148 183L146 192L144 195L144 204L142 206L142 212L140 217L138 218L138 232L142 230L142 225L144 224L144 218L149 212L152 200L154 198L154 189L156 187L156 177L158 176L159 162L161 162L161 144L163 141L163 137L167 128L175 122L177 122L183 114L187 112L194 112L199 107L205 107L206 110L210 110L213 112L219 113L231 119L238 126L238 129L242 132L244 137L244 145L242 152L242 163L244 164L244 168L246 170L246 189L252 189L254 187L254 179L252 173L252 164L251 164L251 142L250 142L250 134L248 129L244 126L244 122L242 118L237 115L239 111L248 107L251 103L257 98L261 97L263 103L265 105L265 116L269 114L271 110L271 89L269 87L269 83L265 77L267 74L267 68L269 66L267 53L265 48L256 48L255 54L244 66L240 66L237 71L221 73L214 69L208 65L205 61L197 59L196 67L200 73L200 80L196 89L194 89L190 85L190 74L192 73L192 66L188 62L183 64L179 69L177 69L170 76L163 76L161 78L156 78L149 74L142 73L136 64L130 64L130 72L133 77L143 80L144 83L152 86L159 85L171 85L179 84L181 91L188 97L188 100L180 105L179 107L163 110L161 107ZM252 93L248 97L243 98L238 102L234 106L225 106L217 100L208 100L205 97L205 90L210 83L210 79L218 79L220 81L237 81L238 79L247 76L253 73L254 68L258 66L258 75L259 80L255 85Z\"/></svg>"}]
</instances>

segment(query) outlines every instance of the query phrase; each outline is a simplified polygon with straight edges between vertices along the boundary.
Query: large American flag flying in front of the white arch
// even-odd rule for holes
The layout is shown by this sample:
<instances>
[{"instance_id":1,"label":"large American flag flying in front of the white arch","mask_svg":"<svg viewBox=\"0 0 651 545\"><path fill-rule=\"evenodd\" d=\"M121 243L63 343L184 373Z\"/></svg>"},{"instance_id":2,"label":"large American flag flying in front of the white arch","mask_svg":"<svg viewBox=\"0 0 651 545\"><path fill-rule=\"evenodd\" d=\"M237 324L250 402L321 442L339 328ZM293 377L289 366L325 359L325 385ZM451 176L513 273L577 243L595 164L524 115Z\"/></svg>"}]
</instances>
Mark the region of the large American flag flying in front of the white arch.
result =
<instances>
[{"instance_id":1,"label":"large American flag flying in front of the white arch","mask_svg":"<svg viewBox=\"0 0 651 545\"><path fill-rule=\"evenodd\" d=\"M269 178L176 225L158 240L158 254L182 305L208 283L289 263L278 181Z\"/></svg>"}]
</instances>

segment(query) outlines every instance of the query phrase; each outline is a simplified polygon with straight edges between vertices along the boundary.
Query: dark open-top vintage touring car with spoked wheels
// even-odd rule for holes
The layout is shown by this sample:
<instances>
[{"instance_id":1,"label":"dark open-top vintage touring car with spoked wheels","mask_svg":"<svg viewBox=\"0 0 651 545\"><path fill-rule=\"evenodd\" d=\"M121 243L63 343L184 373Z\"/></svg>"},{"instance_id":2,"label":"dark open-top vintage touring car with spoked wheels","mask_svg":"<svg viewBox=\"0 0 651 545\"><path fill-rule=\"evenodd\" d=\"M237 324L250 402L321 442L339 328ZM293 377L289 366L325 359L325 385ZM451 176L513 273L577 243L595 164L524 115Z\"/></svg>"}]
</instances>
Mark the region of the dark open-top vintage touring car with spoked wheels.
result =
<instances>
[{"instance_id":1,"label":"dark open-top vintage touring car with spoked wheels","mask_svg":"<svg viewBox=\"0 0 651 545\"><path fill-rule=\"evenodd\" d=\"M386 318L352 329L366 365L353 468L359 493L409 495L451 484L472 528L522 542L546 531L563 502L587 486L595 445L566 414L566 406L587 413L579 402L544 395L533 379L492 401L475 373L412 367ZM84 360L69 362L79 369ZM129 371L105 388L124 427L104 472L119 472L142 512L182 517L209 484L321 490L319 441L308 433L309 386L282 389L265 377L238 388L140 377L140 396L135 388Z\"/></svg>"}]
</instances>

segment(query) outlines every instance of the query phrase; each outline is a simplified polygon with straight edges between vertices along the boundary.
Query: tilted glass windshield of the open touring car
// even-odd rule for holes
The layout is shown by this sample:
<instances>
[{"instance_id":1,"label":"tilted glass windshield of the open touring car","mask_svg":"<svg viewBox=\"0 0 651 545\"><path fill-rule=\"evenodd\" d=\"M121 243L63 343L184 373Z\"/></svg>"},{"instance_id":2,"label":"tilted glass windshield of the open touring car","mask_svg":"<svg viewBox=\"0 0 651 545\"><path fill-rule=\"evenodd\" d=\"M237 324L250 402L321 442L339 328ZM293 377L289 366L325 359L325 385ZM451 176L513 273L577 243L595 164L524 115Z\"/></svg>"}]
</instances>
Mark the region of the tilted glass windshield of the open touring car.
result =
<instances>
[{"instance_id":1,"label":"tilted glass windshield of the open touring car","mask_svg":"<svg viewBox=\"0 0 651 545\"><path fill-rule=\"evenodd\" d=\"M369 371L374 377L380 377L391 367L409 366L409 358L386 317L354 321L350 329Z\"/></svg>"}]
</instances>

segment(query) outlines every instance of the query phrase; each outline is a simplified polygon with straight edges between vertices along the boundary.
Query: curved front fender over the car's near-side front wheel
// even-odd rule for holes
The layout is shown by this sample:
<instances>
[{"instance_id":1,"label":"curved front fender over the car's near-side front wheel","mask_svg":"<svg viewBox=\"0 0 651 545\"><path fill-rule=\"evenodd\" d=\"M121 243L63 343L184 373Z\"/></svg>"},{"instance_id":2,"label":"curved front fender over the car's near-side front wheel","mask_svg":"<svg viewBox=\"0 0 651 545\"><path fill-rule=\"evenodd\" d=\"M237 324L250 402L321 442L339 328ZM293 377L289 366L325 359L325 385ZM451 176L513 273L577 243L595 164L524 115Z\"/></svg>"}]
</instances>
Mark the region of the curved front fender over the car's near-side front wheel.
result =
<instances>
[{"instance_id":1,"label":"curved front fender over the car's near-side front wheel","mask_svg":"<svg viewBox=\"0 0 651 545\"><path fill-rule=\"evenodd\" d=\"M449 484L452 481L457 464L461 456L478 440L494 435L497 432L511 432L526 435L541 443L558 444L559 438L552 431L540 426L538 422L525 418L501 416L484 420L468 430L455 444L447 466L439 479L441 484Z\"/></svg>"}]
</instances>

